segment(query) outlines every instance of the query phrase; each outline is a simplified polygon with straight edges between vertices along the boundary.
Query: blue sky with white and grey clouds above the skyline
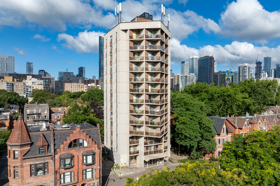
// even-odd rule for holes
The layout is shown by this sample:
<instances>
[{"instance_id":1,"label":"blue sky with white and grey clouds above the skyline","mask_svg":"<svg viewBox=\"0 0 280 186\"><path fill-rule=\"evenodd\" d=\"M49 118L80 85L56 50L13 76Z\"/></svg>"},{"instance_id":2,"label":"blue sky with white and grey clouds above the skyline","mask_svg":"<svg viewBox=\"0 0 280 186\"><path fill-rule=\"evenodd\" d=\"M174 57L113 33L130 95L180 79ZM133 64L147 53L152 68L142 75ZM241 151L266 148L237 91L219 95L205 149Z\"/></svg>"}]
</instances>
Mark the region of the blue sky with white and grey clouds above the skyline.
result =
<instances>
[{"instance_id":1,"label":"blue sky with white and grey clouds above the skyline","mask_svg":"<svg viewBox=\"0 0 280 186\"><path fill-rule=\"evenodd\" d=\"M218 70L272 57L280 63L280 1L272 0L1 0L0 54L15 56L15 71L45 70L98 77L98 36L115 25L114 11L122 3L122 17L130 21L148 12L160 19L160 4L170 14L171 69L180 73L188 57L214 55Z\"/></svg>"}]
</instances>

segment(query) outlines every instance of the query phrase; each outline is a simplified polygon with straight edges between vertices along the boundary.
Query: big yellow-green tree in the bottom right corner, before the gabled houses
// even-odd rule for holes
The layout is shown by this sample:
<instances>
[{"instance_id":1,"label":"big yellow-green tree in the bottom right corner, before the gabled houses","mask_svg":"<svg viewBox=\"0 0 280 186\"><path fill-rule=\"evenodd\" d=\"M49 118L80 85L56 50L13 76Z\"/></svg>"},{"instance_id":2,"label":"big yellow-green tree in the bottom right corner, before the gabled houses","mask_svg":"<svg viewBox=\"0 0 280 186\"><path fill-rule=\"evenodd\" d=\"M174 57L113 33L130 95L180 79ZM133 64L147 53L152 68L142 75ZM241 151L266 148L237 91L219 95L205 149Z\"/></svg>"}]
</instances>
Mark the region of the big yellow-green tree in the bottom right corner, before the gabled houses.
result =
<instances>
[{"instance_id":1,"label":"big yellow-green tree in the bottom right corner, before the gabled houses","mask_svg":"<svg viewBox=\"0 0 280 186\"><path fill-rule=\"evenodd\" d=\"M226 171L241 169L247 185L280 185L280 127L234 136L223 144L219 160Z\"/></svg>"}]
</instances>

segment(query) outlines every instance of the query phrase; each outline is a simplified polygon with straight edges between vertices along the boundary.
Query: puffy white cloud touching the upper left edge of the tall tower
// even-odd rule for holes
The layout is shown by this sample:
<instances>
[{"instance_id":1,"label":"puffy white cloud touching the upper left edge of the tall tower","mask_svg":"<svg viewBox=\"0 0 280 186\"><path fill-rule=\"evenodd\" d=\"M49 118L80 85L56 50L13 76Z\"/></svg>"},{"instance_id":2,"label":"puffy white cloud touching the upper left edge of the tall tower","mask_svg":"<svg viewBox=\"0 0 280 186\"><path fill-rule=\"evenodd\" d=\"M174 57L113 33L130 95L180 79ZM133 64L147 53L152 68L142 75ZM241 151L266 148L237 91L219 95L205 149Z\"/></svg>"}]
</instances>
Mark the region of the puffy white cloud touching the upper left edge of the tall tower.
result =
<instances>
[{"instance_id":1,"label":"puffy white cloud touching the upper left edge of the tall tower","mask_svg":"<svg viewBox=\"0 0 280 186\"><path fill-rule=\"evenodd\" d=\"M65 33L59 34L57 37L58 41L65 41L66 43L62 44L64 47L67 47L70 50L75 50L78 53L89 53L99 52L99 36L103 36L103 32L79 32L78 36L72 36Z\"/></svg>"}]
</instances>

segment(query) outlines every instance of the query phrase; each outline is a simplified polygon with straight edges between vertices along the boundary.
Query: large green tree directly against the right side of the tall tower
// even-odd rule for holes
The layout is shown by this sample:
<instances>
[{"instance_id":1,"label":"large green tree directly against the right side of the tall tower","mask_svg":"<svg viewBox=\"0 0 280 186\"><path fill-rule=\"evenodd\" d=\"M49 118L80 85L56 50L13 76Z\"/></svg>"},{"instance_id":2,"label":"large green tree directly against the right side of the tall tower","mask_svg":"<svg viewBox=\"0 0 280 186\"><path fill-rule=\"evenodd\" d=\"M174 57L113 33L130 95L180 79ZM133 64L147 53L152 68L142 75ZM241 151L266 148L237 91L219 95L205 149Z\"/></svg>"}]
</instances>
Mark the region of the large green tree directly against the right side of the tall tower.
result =
<instances>
[{"instance_id":1,"label":"large green tree directly against the right side of the tall tower","mask_svg":"<svg viewBox=\"0 0 280 186\"><path fill-rule=\"evenodd\" d=\"M214 151L214 122L206 117L205 104L181 92L172 93L171 100L171 108L174 109L171 140L178 152L183 151L197 159Z\"/></svg>"}]
</instances>

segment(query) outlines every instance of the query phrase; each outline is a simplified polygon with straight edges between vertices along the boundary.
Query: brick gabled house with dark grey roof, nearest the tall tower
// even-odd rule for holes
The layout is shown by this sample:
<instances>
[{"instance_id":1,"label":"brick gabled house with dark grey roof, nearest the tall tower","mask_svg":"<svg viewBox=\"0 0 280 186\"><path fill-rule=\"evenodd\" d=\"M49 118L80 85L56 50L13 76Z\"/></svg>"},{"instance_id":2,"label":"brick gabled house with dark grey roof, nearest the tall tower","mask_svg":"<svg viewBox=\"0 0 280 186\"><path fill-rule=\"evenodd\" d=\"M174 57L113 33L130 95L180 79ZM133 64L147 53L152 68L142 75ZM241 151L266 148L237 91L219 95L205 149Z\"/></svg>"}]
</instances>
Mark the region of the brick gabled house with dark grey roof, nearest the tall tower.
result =
<instances>
[{"instance_id":1,"label":"brick gabled house with dark grey roof, nearest the tall tower","mask_svg":"<svg viewBox=\"0 0 280 186\"><path fill-rule=\"evenodd\" d=\"M218 158L223 150L223 143L231 141L233 131L230 127L228 127L225 119L220 118L219 116L209 116L208 118L214 121L214 125L212 127L216 132L216 136L213 139L216 141L217 149L214 153L207 154L206 158L210 158L211 156Z\"/></svg>"}]
</instances>

